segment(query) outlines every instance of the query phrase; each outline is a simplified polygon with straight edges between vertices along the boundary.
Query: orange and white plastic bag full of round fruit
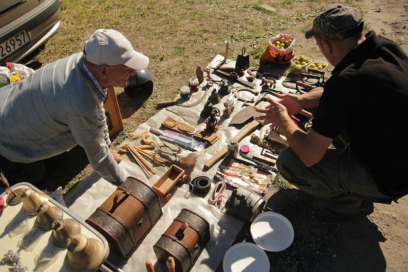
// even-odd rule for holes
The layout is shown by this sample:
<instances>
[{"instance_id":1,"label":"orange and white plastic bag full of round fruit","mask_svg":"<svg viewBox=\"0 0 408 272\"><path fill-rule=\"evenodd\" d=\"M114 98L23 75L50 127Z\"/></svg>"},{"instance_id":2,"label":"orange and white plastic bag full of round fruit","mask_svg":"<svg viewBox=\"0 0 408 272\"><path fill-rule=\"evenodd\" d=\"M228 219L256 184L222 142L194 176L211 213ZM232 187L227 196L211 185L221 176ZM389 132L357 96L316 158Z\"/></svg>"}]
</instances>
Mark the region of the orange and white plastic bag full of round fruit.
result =
<instances>
[{"instance_id":1,"label":"orange and white plastic bag full of round fruit","mask_svg":"<svg viewBox=\"0 0 408 272\"><path fill-rule=\"evenodd\" d=\"M261 61L288 64L295 57L295 37L278 34L269 39L268 46L262 53Z\"/></svg>"}]
</instances>

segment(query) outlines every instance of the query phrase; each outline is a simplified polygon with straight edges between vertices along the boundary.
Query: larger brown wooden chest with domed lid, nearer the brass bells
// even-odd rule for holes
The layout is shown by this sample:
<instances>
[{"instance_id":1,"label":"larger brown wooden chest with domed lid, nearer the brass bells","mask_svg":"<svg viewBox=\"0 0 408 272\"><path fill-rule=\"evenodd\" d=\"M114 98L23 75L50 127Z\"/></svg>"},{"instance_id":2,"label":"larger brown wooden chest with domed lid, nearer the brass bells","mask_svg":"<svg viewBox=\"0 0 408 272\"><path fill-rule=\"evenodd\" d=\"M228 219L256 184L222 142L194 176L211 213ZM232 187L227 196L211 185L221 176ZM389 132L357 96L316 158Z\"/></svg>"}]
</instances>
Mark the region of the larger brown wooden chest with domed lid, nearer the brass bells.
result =
<instances>
[{"instance_id":1,"label":"larger brown wooden chest with domed lid, nearer the brass bells","mask_svg":"<svg viewBox=\"0 0 408 272\"><path fill-rule=\"evenodd\" d=\"M114 253L127 259L162 215L158 194L128 177L86 222L107 239Z\"/></svg>"}]
</instances>

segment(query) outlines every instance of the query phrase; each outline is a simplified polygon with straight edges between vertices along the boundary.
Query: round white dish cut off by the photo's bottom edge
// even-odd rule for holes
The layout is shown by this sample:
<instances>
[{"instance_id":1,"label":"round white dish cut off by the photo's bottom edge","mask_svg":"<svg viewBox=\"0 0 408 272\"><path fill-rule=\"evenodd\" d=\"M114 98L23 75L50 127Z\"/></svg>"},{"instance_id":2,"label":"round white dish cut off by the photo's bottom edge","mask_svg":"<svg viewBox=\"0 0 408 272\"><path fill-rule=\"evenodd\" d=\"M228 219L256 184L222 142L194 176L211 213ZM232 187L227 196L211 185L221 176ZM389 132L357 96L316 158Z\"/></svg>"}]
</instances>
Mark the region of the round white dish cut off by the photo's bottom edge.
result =
<instances>
[{"instance_id":1,"label":"round white dish cut off by the photo's bottom edge","mask_svg":"<svg viewBox=\"0 0 408 272\"><path fill-rule=\"evenodd\" d=\"M269 259L265 251L254 243L236 243L224 255L224 272L269 272Z\"/></svg>"}]
</instances>

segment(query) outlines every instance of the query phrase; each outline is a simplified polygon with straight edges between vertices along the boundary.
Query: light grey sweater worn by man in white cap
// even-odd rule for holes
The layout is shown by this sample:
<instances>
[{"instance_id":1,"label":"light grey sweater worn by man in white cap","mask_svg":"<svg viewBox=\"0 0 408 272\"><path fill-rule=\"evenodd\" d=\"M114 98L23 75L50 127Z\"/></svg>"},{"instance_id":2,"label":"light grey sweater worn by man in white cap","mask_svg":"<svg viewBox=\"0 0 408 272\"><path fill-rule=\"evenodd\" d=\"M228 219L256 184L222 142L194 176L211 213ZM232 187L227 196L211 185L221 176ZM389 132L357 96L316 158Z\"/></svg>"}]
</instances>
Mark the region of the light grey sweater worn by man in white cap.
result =
<instances>
[{"instance_id":1,"label":"light grey sweater worn by man in white cap","mask_svg":"<svg viewBox=\"0 0 408 272\"><path fill-rule=\"evenodd\" d=\"M123 171L109 151L103 101L82 67L82 56L75 53L0 88L0 154L29 163L79 144L99 175L121 182Z\"/></svg>"}]
</instances>

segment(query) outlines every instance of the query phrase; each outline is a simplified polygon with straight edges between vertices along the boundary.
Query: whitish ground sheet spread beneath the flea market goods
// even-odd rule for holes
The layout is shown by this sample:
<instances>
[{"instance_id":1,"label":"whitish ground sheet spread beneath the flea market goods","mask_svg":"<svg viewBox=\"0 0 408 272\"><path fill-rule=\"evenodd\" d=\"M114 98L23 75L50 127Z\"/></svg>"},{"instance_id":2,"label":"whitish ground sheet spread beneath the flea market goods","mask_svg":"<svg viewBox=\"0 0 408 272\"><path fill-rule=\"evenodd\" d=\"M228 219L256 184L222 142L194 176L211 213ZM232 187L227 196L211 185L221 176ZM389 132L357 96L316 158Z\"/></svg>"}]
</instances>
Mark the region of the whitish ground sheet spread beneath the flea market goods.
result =
<instances>
[{"instance_id":1,"label":"whitish ground sheet spread beneath the flea market goods","mask_svg":"<svg viewBox=\"0 0 408 272\"><path fill-rule=\"evenodd\" d=\"M214 67L216 63L222 60L223 57L218 55L212 63L209 64L208 67ZM228 66L234 67L234 62L230 62L227 64ZM213 79L219 80L220 78L216 75L211 75ZM229 82L233 84L232 82ZM240 86L235 84L235 86ZM200 85L198 91L194 92L189 99L186 101L186 104L191 104L197 101L203 94L204 91L201 90L201 87L205 87L205 82ZM259 86L257 86L259 87ZM207 92L207 97L203 99L198 105L193 107L181 107L181 106L172 106L171 108L179 114L188 117L190 119L200 119L199 115L202 111L203 106L207 102L208 97L211 95L211 91L213 88L218 88L216 85L210 88ZM244 93L244 92L242 92ZM240 96L245 95L241 94ZM249 96L253 96L250 92L248 92ZM219 160L212 168L207 171L203 171L204 163L215 155L219 150L221 150L224 146L227 145L228 140L232 139L248 122L240 126L228 126L230 119L226 119L222 116L222 111L224 110L223 102L227 99L234 98L234 94L230 93L225 95L221 98L221 102L217 105L221 116L219 122L219 130L217 134L220 136L220 139L214 144L208 146L206 149L202 151L203 155L200 156L195 166L187 166L187 165L180 165L176 160L175 157L170 155L161 155L164 158L170 160L172 164L180 166L182 169L186 171L186 175L188 176L188 181L194 179L198 176L207 176L212 181L211 188L214 187L215 183L218 181L217 178L214 178L216 170L221 163L222 159ZM242 101L237 102L237 106L233 113L236 114L239 112L240 107L242 106ZM144 130L149 130L150 127L158 128L164 130L165 128L160 128L161 122L167 117L170 116L174 120L187 123L183 120L182 117L177 116L176 114L167 111L163 108L158 114L149 118L145 123L139 125L135 132L141 132ZM200 119L201 120L201 119ZM203 121L203 120L201 120ZM188 123L187 123L188 124ZM204 129L205 124L201 122L199 125L193 125L197 129ZM262 132L265 133L267 127L262 128ZM251 134L256 133L257 135L263 135L259 130L254 130L253 132L249 133L247 137L245 137L239 145L250 145L253 153L260 153L261 148L254 145L249 144ZM158 143L163 143L162 140L159 139L158 135L153 133L150 134L149 138L156 140ZM143 143L140 140L130 141L129 139L124 141L124 143L131 143L134 146L142 145ZM122 143L122 144L124 144ZM133 176L137 177L146 183L153 185L160 178L161 175L165 173L170 165L167 167L155 167L158 171L157 175L152 176L148 179L143 171L133 162L133 158L126 154L122 154L124 159L122 162L119 163L119 166L123 169L125 176ZM273 174L273 177L275 174ZM77 186L71 189L67 195L64 196L65 203L69 210L77 213L79 217L82 219L87 219L89 215L91 215L97 207L99 207L105 200L115 191L117 185L113 185L110 182L101 178L97 173L93 172L84 180L82 180ZM224 197L222 203L220 205L221 210L225 205L225 201L230 197L232 190L234 187L231 185L227 185L227 189L224 193ZM198 260L196 261L195 265L193 266L191 271L214 271L217 269L218 265L222 262L223 256L228 248L231 247L232 243L237 237L237 234L241 230L244 222L235 219L234 217L227 215L218 207L210 205L207 201L210 197L210 193L207 194L205 198L196 196L188 191L188 184L181 185L180 183L173 187L170 192L173 197L170 199L169 202L164 202L163 198L160 197L160 202L163 207L163 216L159 220L159 222L152 228L150 233L144 238L143 242L140 244L139 248L133 253L132 257L129 260L123 260L119 256L115 254L110 254L109 262L113 263L114 265L118 266L123 271L136 271L136 270L144 270L145 269L145 262L150 260L154 266L156 271L167 271L167 268L164 264L159 263L157 258L154 254L152 246L158 241L160 236L164 233L164 231L170 226L173 222L173 219L179 214L182 208L191 209L198 214L200 214L203 218L205 218L210 223L210 241L208 242L206 249L201 253ZM224 211L224 210L223 210Z\"/></svg>"}]
</instances>

